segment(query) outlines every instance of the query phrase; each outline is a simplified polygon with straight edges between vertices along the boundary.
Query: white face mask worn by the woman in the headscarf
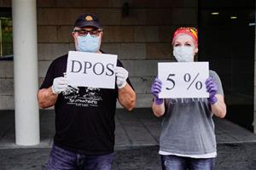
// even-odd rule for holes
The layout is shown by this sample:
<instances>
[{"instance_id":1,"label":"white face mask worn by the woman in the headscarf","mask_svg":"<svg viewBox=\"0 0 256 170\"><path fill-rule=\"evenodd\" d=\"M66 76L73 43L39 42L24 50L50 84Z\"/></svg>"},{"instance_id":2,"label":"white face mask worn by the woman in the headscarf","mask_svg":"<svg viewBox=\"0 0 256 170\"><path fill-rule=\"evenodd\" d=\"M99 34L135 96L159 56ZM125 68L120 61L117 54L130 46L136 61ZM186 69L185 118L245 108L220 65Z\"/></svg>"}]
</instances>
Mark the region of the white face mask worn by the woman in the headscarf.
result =
<instances>
[{"instance_id":1,"label":"white face mask worn by the woman in the headscarf","mask_svg":"<svg viewBox=\"0 0 256 170\"><path fill-rule=\"evenodd\" d=\"M193 62L194 47L178 46L173 48L173 55L177 62Z\"/></svg>"}]
</instances>

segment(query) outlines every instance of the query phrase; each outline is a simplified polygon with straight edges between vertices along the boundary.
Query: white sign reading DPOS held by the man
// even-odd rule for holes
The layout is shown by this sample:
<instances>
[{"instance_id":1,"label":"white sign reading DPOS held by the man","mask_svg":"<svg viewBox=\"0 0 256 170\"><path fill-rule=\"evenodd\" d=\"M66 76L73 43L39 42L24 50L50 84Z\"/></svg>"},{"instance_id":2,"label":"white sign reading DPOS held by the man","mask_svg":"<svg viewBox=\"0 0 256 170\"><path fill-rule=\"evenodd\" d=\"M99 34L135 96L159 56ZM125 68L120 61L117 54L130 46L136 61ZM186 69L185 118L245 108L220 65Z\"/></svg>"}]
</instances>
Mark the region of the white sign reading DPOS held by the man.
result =
<instances>
[{"instance_id":1,"label":"white sign reading DPOS held by the man","mask_svg":"<svg viewBox=\"0 0 256 170\"><path fill-rule=\"evenodd\" d=\"M114 88L117 55L69 51L67 79L72 86Z\"/></svg>"}]
</instances>

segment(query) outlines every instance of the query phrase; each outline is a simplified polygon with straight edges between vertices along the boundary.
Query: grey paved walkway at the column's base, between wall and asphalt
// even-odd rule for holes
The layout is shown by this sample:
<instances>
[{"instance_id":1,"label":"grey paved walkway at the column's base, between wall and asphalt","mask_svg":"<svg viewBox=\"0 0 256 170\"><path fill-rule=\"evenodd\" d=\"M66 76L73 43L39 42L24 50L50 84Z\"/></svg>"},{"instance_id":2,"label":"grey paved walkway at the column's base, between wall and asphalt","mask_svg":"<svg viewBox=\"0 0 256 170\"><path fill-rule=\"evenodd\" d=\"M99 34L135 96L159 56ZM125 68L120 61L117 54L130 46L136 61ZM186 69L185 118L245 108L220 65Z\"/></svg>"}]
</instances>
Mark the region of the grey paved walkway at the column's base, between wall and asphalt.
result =
<instances>
[{"instance_id":1,"label":"grey paved walkway at the column's base, between wall and asphalt","mask_svg":"<svg viewBox=\"0 0 256 170\"><path fill-rule=\"evenodd\" d=\"M155 117L151 109L135 109L132 112L119 109L115 119L116 149L159 144L161 118ZM54 120L54 111L40 111L41 143L33 147L51 147L55 133ZM215 118L214 122L218 144L256 142L256 135L243 127L224 119ZM0 149L4 148L20 148L15 144L14 111L0 111Z\"/></svg>"}]
</instances>

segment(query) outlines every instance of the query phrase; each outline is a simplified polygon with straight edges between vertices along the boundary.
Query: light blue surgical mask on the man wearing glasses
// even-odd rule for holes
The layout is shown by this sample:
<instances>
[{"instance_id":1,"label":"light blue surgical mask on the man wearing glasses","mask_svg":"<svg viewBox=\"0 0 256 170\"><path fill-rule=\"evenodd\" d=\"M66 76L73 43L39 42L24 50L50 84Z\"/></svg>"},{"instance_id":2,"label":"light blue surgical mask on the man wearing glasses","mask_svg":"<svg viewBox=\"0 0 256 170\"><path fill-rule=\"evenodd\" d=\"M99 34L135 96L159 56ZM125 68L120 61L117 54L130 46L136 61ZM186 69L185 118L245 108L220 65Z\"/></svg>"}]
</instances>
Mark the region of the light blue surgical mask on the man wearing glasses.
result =
<instances>
[{"instance_id":1,"label":"light blue surgical mask on the man wearing glasses","mask_svg":"<svg viewBox=\"0 0 256 170\"><path fill-rule=\"evenodd\" d=\"M100 37L92 37L90 33L78 37L78 51L96 53L100 49Z\"/></svg>"}]
</instances>

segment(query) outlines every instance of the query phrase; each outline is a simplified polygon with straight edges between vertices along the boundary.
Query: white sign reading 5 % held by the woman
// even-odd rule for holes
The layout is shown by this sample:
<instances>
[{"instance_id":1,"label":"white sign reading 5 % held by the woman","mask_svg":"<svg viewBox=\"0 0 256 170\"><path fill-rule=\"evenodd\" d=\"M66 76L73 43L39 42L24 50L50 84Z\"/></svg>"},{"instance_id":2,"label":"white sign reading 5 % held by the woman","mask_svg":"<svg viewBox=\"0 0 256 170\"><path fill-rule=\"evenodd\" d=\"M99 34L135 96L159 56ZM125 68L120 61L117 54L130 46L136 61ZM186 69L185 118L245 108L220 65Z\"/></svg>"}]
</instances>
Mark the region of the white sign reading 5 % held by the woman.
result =
<instances>
[{"instance_id":1,"label":"white sign reading 5 % held by the woman","mask_svg":"<svg viewBox=\"0 0 256 170\"><path fill-rule=\"evenodd\" d=\"M158 63L162 82L160 98L208 98L205 82L209 77L208 62Z\"/></svg>"}]
</instances>

